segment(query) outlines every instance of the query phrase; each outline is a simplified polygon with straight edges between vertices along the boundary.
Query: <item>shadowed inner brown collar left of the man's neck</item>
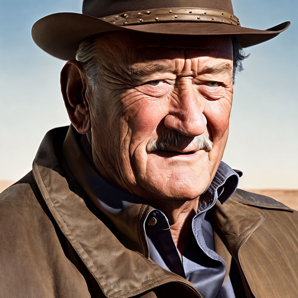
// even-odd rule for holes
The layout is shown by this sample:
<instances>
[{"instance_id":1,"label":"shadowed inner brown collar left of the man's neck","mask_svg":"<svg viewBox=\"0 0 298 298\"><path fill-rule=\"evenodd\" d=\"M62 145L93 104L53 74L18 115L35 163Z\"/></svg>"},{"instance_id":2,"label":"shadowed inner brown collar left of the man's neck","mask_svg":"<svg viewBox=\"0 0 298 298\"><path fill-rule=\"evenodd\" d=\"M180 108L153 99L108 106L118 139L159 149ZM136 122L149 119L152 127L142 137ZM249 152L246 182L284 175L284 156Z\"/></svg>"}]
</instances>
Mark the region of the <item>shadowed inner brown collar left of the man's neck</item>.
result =
<instances>
[{"instance_id":1,"label":"shadowed inner brown collar left of the man's neck","mask_svg":"<svg viewBox=\"0 0 298 298\"><path fill-rule=\"evenodd\" d=\"M145 239L140 233L141 218L153 208L103 178L84 153L80 145L81 136L70 125L62 150L67 167L93 204L111 220L115 228L136 242L139 251L146 255L147 245L144 245Z\"/></svg>"}]
</instances>

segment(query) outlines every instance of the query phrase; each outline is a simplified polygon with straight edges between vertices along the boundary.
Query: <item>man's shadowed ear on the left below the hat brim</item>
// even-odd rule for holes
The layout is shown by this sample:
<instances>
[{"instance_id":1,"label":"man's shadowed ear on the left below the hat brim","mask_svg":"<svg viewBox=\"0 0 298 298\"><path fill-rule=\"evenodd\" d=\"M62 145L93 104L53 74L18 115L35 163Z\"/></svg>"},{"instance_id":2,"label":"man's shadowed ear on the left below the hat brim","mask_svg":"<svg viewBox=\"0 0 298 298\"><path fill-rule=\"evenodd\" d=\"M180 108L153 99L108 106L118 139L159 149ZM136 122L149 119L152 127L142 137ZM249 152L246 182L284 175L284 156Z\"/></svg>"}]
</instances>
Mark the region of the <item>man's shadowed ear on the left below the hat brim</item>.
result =
<instances>
[{"instance_id":1,"label":"man's shadowed ear on the left below the hat brim","mask_svg":"<svg viewBox=\"0 0 298 298\"><path fill-rule=\"evenodd\" d=\"M91 120L86 99L86 73L79 61L66 62L61 70L60 84L71 123L79 133L87 133L91 129Z\"/></svg>"}]
</instances>

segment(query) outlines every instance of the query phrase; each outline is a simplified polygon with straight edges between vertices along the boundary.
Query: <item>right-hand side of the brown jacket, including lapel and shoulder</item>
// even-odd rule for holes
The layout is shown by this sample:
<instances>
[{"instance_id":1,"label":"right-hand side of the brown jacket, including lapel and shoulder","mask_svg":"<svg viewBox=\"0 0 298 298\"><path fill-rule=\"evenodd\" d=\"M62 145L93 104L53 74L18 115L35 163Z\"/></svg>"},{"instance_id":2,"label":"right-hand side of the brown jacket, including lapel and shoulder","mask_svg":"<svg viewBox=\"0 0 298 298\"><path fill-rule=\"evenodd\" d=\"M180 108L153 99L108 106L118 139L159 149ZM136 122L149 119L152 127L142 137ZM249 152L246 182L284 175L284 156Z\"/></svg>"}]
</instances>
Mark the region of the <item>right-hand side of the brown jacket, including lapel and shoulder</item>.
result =
<instances>
[{"instance_id":1,"label":"right-hand side of the brown jacket, including lapel and shoulder","mask_svg":"<svg viewBox=\"0 0 298 298\"><path fill-rule=\"evenodd\" d=\"M272 198L240 189L224 205L217 202L214 206L220 238L215 244L218 243L219 251L224 251L221 246L227 246L237 261L247 297L280 297L278 285L281 280L284 285L287 279L290 281L282 288L287 288L291 295L298 294L293 288L296 274L289 262L298 245L294 233L297 228L291 220L292 211ZM290 240L285 233L288 229L292 230ZM282 247L279 241L284 241L285 246ZM288 273L287 279L283 276L285 272Z\"/></svg>"}]
</instances>

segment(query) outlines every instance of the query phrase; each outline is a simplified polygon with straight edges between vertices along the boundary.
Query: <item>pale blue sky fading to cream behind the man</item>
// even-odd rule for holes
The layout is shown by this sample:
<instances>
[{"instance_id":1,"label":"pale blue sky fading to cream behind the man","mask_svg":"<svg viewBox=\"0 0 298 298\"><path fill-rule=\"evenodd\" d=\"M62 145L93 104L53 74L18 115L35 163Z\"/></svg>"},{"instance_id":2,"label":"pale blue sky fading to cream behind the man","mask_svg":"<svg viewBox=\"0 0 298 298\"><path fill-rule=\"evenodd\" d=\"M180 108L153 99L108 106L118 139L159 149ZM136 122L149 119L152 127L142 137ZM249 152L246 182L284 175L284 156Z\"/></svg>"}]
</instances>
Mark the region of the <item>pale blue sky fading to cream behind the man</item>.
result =
<instances>
[{"instance_id":1,"label":"pale blue sky fading to cream behind the man","mask_svg":"<svg viewBox=\"0 0 298 298\"><path fill-rule=\"evenodd\" d=\"M241 25L292 25L278 37L246 49L236 77L230 135L223 160L241 169L242 188L298 188L297 0L232 0ZM0 179L31 170L44 134L70 123L60 94L65 61L39 49L31 26L55 12L81 12L78 0L2 1L0 12Z\"/></svg>"}]
</instances>

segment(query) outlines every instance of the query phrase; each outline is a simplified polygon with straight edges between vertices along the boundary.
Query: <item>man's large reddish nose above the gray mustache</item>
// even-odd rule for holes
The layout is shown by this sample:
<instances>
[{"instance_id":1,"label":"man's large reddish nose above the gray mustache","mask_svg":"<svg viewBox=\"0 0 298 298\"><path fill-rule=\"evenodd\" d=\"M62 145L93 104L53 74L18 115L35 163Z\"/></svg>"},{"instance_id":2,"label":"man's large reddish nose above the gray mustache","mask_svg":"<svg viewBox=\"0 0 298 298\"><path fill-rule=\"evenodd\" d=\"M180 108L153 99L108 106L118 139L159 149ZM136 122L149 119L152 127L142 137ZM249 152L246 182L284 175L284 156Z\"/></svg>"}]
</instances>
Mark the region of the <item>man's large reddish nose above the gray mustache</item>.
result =
<instances>
[{"instance_id":1,"label":"man's large reddish nose above the gray mustache","mask_svg":"<svg viewBox=\"0 0 298 298\"><path fill-rule=\"evenodd\" d=\"M186 136L198 136L205 132L207 120L203 114L205 102L192 84L181 88L169 104L165 126Z\"/></svg>"}]
</instances>

